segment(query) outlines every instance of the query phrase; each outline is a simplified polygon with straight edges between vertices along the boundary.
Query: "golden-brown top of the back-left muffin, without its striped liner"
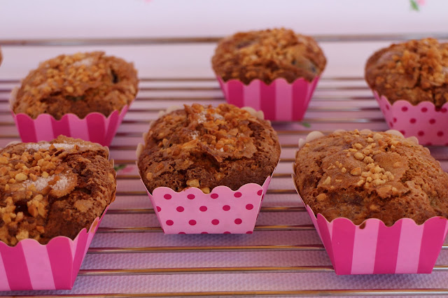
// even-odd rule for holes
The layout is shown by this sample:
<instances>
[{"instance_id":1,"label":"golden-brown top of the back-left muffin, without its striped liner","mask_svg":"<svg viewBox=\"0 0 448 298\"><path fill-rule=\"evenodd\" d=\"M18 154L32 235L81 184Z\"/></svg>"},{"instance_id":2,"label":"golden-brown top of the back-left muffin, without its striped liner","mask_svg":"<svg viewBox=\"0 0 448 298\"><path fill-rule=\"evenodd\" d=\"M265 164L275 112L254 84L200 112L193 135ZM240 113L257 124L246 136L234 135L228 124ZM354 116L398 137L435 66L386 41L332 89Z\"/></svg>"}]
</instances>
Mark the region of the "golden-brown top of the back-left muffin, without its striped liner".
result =
<instances>
[{"instance_id":1,"label":"golden-brown top of the back-left muffin, without its striped liner","mask_svg":"<svg viewBox=\"0 0 448 298\"><path fill-rule=\"evenodd\" d=\"M60 55L42 62L22 80L12 107L14 113L31 118L42 113L58 120L66 113L79 118L92 112L109 116L130 104L138 83L131 63L104 52Z\"/></svg>"}]
</instances>

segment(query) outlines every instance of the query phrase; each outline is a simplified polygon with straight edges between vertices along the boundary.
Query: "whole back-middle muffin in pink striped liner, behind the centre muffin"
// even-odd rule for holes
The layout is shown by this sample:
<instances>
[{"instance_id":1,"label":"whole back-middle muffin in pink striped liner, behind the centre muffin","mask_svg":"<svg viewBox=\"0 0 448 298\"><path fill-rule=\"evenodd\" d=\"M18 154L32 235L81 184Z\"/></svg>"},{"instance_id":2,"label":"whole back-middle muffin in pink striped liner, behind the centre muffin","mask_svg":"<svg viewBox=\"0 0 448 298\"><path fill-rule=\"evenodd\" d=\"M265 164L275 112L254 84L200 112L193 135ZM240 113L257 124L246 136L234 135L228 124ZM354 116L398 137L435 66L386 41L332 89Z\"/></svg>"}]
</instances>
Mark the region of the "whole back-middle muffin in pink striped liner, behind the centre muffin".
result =
<instances>
[{"instance_id":1,"label":"whole back-middle muffin in pink striped liner, behind the centre muffin","mask_svg":"<svg viewBox=\"0 0 448 298\"><path fill-rule=\"evenodd\" d=\"M302 120L326 59L316 41L289 29L223 38L211 59L229 104L250 106L265 119Z\"/></svg>"}]
</instances>

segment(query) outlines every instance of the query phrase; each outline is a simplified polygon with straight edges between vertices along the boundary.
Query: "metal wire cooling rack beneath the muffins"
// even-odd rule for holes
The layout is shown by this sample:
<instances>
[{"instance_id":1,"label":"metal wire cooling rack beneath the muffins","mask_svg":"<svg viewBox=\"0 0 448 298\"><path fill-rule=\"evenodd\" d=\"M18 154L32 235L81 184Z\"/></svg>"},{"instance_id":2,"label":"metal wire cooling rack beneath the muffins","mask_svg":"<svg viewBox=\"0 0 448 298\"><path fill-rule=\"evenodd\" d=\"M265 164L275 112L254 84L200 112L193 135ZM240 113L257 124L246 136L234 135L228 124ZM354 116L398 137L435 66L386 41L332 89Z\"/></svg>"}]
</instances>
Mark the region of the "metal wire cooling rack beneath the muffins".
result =
<instances>
[{"instance_id":1,"label":"metal wire cooling rack beneath the muffins","mask_svg":"<svg viewBox=\"0 0 448 298\"><path fill-rule=\"evenodd\" d=\"M429 35L429 34L426 34ZM391 42L419 35L315 36L321 43ZM448 36L432 34L440 39ZM214 48L218 38L121 38L0 41L32 55L36 48L64 52L67 48L124 46L132 50L168 45ZM374 50L374 48L372 49ZM210 52L207 52L210 55ZM207 55L205 59L209 59ZM168 59L162 56L160 59ZM17 61L19 63L19 61ZM207 61L208 63L208 61ZM31 66L30 66L31 67ZM359 65L359 67L363 67ZM448 243L432 274L336 276L292 179L297 141L313 130L388 129L377 102L362 77L323 76L305 118L273 123L281 142L281 160L263 201L255 232L250 235L164 235L134 164L137 143L148 123L168 106L220 104L225 100L213 76L191 69L189 76L141 77L137 100L111 144L118 171L116 201L111 204L87 252L72 290L3 292L0 295L62 297L179 296L366 296L448 295ZM0 148L20 141L10 115L10 90L18 78L0 80ZM448 148L430 147L444 171Z\"/></svg>"}]
</instances>

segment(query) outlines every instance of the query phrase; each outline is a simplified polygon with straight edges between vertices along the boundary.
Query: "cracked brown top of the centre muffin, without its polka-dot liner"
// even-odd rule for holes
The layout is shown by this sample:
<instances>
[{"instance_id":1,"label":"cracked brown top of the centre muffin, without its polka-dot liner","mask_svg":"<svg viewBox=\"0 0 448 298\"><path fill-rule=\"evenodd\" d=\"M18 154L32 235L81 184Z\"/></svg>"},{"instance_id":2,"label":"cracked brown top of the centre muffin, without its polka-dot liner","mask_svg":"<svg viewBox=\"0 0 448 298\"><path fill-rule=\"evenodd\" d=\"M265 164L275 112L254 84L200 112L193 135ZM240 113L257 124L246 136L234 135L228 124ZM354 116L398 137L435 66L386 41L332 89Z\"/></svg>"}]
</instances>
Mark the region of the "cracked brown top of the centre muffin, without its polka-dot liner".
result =
<instances>
[{"instance_id":1,"label":"cracked brown top of the centre muffin, without its polka-dot liner","mask_svg":"<svg viewBox=\"0 0 448 298\"><path fill-rule=\"evenodd\" d=\"M209 193L218 185L232 190L246 183L262 185L280 157L270 123L230 104L185 105L162 115L139 150L139 170L150 192L160 186Z\"/></svg>"}]
</instances>

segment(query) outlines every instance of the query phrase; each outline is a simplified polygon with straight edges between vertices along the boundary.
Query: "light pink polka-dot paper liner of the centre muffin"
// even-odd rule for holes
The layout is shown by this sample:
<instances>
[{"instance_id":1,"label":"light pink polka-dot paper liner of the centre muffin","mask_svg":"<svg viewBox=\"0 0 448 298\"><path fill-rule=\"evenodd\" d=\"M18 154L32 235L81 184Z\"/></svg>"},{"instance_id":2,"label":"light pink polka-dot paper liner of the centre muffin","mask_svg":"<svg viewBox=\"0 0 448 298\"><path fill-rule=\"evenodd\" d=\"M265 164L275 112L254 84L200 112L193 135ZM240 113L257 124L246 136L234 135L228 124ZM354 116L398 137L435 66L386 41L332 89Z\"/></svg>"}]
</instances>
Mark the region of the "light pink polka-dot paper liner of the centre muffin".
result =
<instances>
[{"instance_id":1,"label":"light pink polka-dot paper liner of the centre muffin","mask_svg":"<svg viewBox=\"0 0 448 298\"><path fill-rule=\"evenodd\" d=\"M229 105L220 105L219 107L222 106ZM211 107L209 106L209 108ZM176 109L179 108L169 108L165 113L162 112L161 116L176 111ZM253 113L251 117L256 115L257 118L254 117L254 119L260 121L261 113L255 113L251 108L248 108L248 111ZM261 121L266 123L262 118ZM151 127L153 124L154 122ZM201 136L196 136L196 138L200 139ZM147 141L147 139L147 133L145 133L144 140ZM218 185L211 189L207 187L207 191L204 190L204 187L191 186L180 191L176 191L172 187L159 186L150 191L143 180L145 173L139 166L144 148L144 144L141 143L137 147L137 167L139 167L141 181L148 192L148 197L151 199L155 214L165 234L253 233L272 173L265 176L264 183L261 185L258 182L245 183L237 190L232 190L226 185ZM276 164L272 172L275 166Z\"/></svg>"}]
</instances>

